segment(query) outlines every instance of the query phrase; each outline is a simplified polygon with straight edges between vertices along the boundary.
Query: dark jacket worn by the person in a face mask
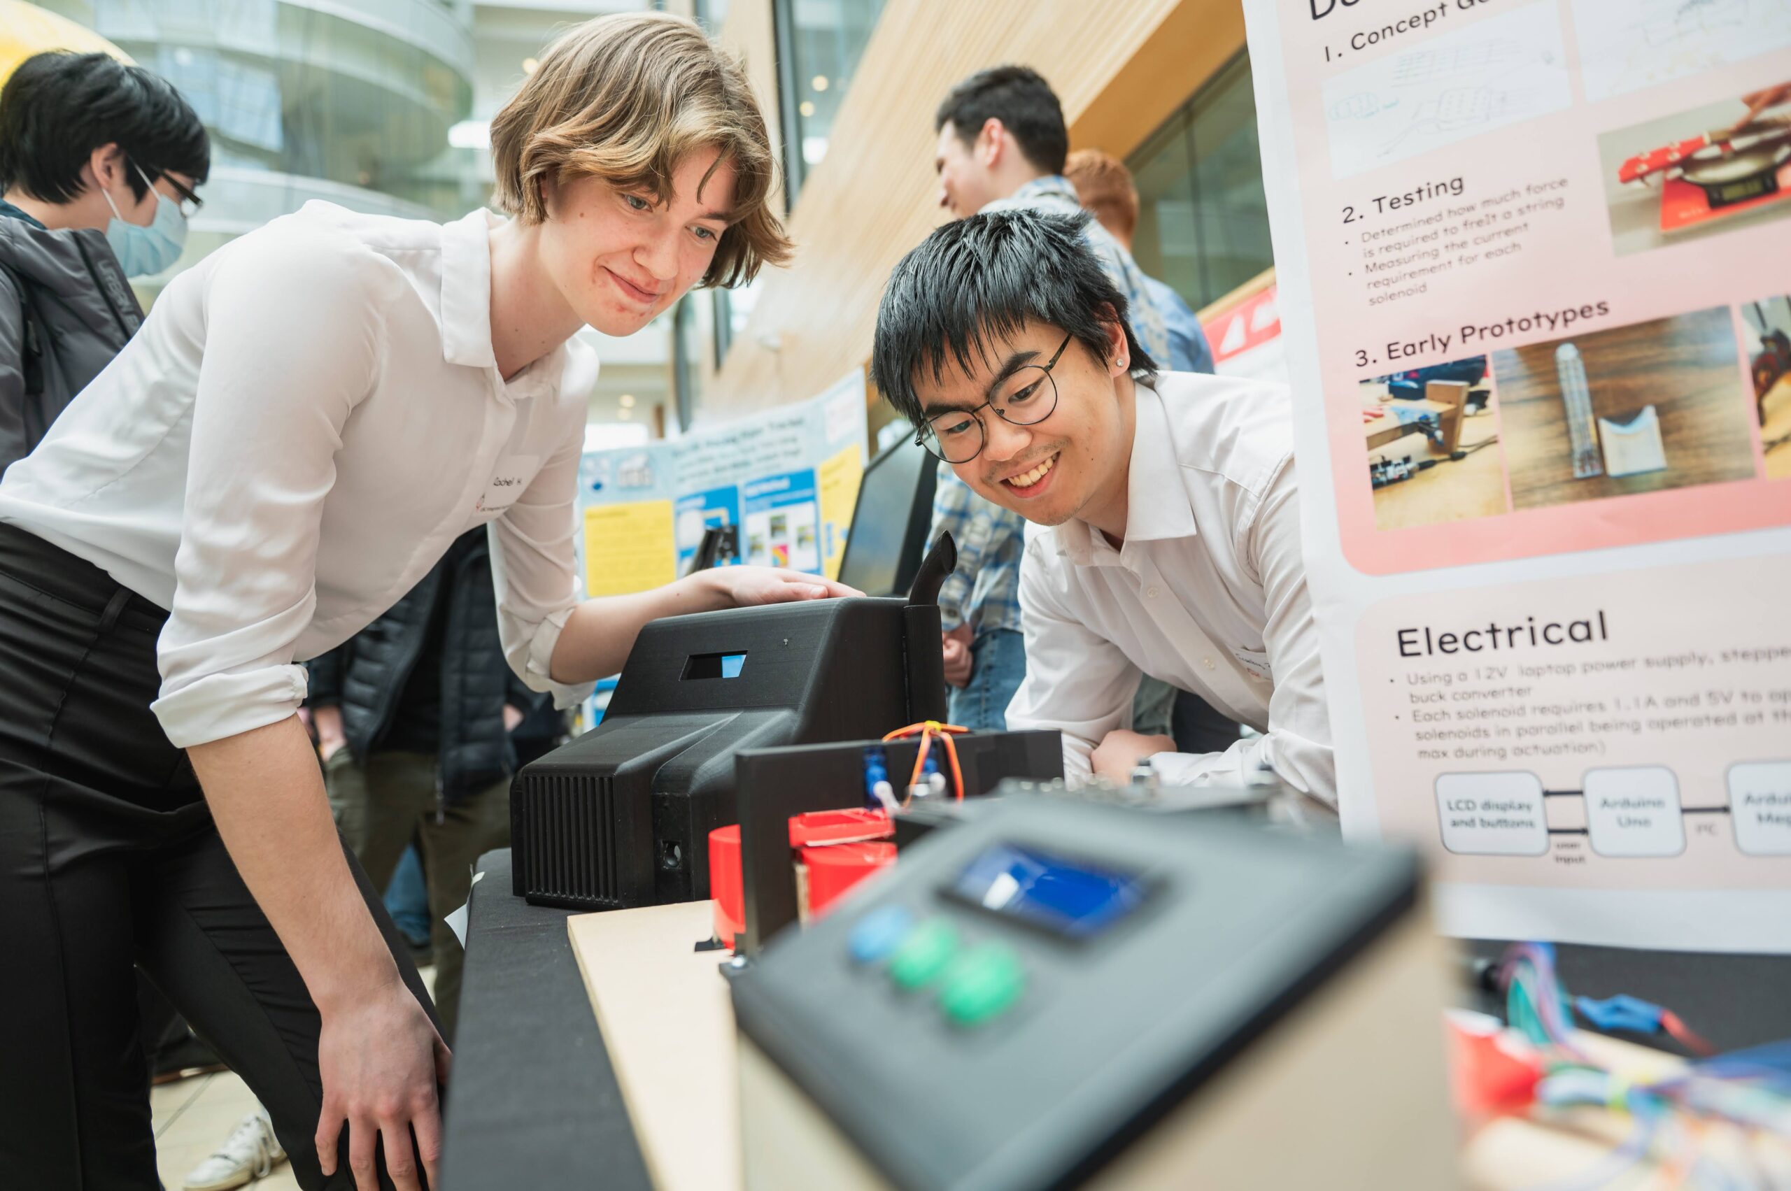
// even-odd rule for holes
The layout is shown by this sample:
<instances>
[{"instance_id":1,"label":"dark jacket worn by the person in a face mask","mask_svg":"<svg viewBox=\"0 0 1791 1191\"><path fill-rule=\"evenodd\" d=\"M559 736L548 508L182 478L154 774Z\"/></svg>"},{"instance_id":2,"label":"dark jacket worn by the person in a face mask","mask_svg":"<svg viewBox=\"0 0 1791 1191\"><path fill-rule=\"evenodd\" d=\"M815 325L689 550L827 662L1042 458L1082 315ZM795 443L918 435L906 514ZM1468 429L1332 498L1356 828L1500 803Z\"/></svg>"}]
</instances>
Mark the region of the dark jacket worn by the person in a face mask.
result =
<instances>
[{"instance_id":1,"label":"dark jacket worn by the person in a face mask","mask_svg":"<svg viewBox=\"0 0 1791 1191\"><path fill-rule=\"evenodd\" d=\"M0 213L0 471L38 446L141 322L104 233Z\"/></svg>"}]
</instances>

